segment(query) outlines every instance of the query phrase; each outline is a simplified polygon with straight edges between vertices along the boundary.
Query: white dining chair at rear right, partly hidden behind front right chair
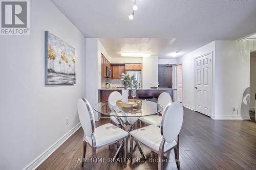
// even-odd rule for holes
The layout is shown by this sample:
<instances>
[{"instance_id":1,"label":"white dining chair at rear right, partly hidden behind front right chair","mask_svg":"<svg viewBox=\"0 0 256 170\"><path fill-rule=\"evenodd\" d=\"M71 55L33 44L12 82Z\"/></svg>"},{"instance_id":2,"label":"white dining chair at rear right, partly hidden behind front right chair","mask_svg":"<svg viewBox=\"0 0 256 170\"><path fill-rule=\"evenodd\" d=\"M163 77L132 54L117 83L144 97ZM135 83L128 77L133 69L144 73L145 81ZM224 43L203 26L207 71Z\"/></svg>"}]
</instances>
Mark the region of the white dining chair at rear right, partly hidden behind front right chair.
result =
<instances>
[{"instance_id":1,"label":"white dining chair at rear right, partly hidden behind front right chair","mask_svg":"<svg viewBox=\"0 0 256 170\"><path fill-rule=\"evenodd\" d=\"M161 111L160 114L163 114L165 107L170 102L172 102L172 97L170 96L169 93L162 92L159 95L157 103L163 107L163 111ZM161 120L162 120L162 116L160 115L142 116L139 118L139 121L145 123L146 125L156 125L158 127L160 127Z\"/></svg>"}]
</instances>

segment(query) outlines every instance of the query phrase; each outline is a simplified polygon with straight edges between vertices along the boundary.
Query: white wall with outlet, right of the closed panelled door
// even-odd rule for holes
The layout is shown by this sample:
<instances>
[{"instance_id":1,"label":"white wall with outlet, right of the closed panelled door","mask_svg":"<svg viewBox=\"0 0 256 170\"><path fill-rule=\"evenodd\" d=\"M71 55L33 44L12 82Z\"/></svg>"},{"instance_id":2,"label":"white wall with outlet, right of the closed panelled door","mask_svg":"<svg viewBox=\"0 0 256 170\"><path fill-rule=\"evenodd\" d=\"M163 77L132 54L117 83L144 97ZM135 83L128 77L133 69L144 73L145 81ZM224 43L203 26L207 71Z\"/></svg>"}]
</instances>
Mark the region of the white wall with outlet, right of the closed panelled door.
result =
<instances>
[{"instance_id":1,"label":"white wall with outlet, right of the closed panelled door","mask_svg":"<svg viewBox=\"0 0 256 170\"><path fill-rule=\"evenodd\" d=\"M242 100L250 86L250 48L256 47L255 42L216 41L214 118L249 118L249 105ZM232 107L238 109L238 115Z\"/></svg>"}]
</instances>

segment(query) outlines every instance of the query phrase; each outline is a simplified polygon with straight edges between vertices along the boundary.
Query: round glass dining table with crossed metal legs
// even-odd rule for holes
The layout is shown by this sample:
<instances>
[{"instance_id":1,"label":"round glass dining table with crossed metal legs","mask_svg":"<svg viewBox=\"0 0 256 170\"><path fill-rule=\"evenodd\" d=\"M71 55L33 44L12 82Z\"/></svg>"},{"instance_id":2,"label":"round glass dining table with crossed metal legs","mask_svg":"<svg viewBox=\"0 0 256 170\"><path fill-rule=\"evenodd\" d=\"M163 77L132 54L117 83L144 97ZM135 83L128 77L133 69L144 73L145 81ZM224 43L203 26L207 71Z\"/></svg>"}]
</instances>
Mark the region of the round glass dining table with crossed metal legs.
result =
<instances>
[{"instance_id":1,"label":"round glass dining table with crossed metal legs","mask_svg":"<svg viewBox=\"0 0 256 170\"><path fill-rule=\"evenodd\" d=\"M106 116L113 116L122 126L122 129L127 131L128 133L132 131L133 125L137 122L137 120L142 116L150 116L156 115L163 110L163 107L155 102L140 100L138 106L136 107L122 107L117 104L117 101L105 101L99 102L93 106L93 109L101 114ZM141 156L146 159L145 153L143 152L141 145L138 141L136 141L136 146L141 154ZM117 160L119 154L121 153L124 147L124 140L120 143L115 156L113 157L113 161ZM127 147L127 146L125 146ZM130 151L133 152L133 151Z\"/></svg>"}]
</instances>

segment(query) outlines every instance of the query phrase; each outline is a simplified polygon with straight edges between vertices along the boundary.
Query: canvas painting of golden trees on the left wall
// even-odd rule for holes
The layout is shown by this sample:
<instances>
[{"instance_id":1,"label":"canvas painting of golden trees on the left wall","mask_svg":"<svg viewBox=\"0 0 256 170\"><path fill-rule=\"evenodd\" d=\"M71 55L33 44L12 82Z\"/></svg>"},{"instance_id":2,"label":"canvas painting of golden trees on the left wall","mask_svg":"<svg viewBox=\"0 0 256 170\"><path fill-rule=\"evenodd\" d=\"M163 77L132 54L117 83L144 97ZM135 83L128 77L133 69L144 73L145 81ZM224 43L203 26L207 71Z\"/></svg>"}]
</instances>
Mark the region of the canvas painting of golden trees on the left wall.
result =
<instances>
[{"instance_id":1,"label":"canvas painting of golden trees on the left wall","mask_svg":"<svg viewBox=\"0 0 256 170\"><path fill-rule=\"evenodd\" d=\"M45 84L72 85L76 83L75 48L49 31L45 31Z\"/></svg>"}]
</instances>

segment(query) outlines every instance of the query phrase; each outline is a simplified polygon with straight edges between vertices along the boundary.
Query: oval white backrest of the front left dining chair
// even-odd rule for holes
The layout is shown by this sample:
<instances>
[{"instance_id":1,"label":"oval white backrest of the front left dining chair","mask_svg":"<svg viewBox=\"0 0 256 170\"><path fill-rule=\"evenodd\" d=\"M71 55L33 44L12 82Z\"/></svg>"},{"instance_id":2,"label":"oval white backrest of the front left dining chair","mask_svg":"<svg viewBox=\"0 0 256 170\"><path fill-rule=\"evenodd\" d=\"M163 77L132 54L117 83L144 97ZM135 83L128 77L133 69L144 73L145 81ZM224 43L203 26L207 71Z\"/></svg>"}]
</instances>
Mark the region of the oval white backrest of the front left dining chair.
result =
<instances>
[{"instance_id":1,"label":"oval white backrest of the front left dining chair","mask_svg":"<svg viewBox=\"0 0 256 170\"><path fill-rule=\"evenodd\" d=\"M96 128L92 106L83 98L78 99L77 108L84 134L86 134L86 136L92 136Z\"/></svg>"}]
</instances>

